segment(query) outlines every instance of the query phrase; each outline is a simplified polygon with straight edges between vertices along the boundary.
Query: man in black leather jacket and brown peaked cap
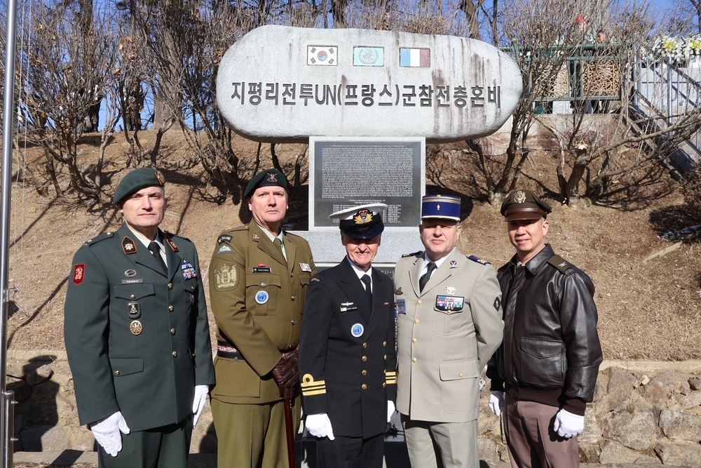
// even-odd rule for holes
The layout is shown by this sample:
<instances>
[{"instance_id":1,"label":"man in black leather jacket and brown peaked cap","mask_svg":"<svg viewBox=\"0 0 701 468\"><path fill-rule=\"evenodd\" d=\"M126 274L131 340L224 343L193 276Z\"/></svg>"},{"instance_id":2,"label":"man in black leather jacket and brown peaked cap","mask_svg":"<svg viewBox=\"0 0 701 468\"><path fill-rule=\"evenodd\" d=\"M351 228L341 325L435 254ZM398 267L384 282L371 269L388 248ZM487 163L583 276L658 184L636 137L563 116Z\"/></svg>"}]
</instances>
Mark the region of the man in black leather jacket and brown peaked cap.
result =
<instances>
[{"instance_id":1,"label":"man in black leather jacket and brown peaked cap","mask_svg":"<svg viewBox=\"0 0 701 468\"><path fill-rule=\"evenodd\" d=\"M579 466L577 436L602 361L594 283L545 243L550 211L529 190L501 206L516 255L497 274L504 340L487 375L512 467Z\"/></svg>"}]
</instances>

